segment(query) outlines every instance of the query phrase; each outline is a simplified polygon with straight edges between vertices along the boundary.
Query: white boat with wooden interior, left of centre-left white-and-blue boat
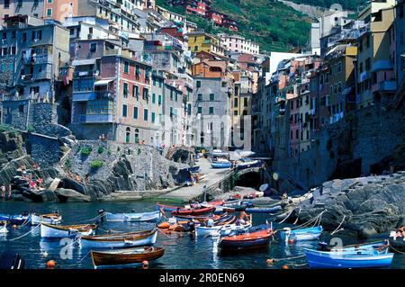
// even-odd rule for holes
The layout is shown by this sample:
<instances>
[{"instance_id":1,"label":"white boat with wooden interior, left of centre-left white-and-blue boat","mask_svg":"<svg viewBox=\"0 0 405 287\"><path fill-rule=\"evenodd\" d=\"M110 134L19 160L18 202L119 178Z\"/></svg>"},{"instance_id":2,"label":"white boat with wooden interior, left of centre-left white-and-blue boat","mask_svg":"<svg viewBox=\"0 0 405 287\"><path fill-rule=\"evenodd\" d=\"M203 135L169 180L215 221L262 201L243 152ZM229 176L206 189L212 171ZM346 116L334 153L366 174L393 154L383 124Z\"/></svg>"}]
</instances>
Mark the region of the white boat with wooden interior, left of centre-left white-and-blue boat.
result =
<instances>
[{"instance_id":1,"label":"white boat with wooden interior, left of centre-left white-and-blue boat","mask_svg":"<svg viewBox=\"0 0 405 287\"><path fill-rule=\"evenodd\" d=\"M40 224L40 237L43 239L76 238L80 236L92 235L96 228L97 226L95 224L61 226L42 222Z\"/></svg>"}]
</instances>

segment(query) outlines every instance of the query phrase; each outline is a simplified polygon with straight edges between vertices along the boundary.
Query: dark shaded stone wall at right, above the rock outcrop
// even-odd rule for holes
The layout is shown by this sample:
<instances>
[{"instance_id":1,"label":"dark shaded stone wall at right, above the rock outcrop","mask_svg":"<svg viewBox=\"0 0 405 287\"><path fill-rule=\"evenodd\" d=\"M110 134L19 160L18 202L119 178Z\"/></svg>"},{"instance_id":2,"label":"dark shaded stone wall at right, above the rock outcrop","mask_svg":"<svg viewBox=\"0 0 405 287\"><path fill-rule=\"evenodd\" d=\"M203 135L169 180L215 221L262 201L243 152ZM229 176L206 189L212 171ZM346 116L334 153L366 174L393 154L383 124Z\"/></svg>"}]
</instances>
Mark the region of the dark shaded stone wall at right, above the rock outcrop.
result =
<instances>
[{"instance_id":1,"label":"dark shaded stone wall at right, above the rock outcrop","mask_svg":"<svg viewBox=\"0 0 405 287\"><path fill-rule=\"evenodd\" d=\"M333 178L389 170L390 163L395 161L393 151L401 145L405 134L404 114L403 107L395 111L390 106L374 105L349 113L342 121L320 130L311 142L311 149L297 157L279 151L273 163L275 172L281 176L279 189L308 190ZM380 170L375 166L380 166Z\"/></svg>"}]
</instances>

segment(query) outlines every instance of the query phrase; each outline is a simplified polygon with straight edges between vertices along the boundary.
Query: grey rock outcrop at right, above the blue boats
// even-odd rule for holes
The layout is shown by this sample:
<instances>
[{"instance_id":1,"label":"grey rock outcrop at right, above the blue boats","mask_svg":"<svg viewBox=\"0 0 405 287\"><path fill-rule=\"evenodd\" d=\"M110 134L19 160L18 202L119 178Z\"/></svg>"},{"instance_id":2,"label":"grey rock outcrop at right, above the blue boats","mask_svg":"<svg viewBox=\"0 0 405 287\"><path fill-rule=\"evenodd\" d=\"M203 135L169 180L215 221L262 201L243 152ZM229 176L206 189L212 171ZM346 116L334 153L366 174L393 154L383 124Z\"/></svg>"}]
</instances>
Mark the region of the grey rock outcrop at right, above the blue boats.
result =
<instances>
[{"instance_id":1,"label":"grey rock outcrop at right, above the blue boats","mask_svg":"<svg viewBox=\"0 0 405 287\"><path fill-rule=\"evenodd\" d=\"M405 217L405 172L333 180L305 196L290 221L298 217L303 223L324 211L321 224L325 229L341 224L346 233L366 238L395 229Z\"/></svg>"}]
</instances>

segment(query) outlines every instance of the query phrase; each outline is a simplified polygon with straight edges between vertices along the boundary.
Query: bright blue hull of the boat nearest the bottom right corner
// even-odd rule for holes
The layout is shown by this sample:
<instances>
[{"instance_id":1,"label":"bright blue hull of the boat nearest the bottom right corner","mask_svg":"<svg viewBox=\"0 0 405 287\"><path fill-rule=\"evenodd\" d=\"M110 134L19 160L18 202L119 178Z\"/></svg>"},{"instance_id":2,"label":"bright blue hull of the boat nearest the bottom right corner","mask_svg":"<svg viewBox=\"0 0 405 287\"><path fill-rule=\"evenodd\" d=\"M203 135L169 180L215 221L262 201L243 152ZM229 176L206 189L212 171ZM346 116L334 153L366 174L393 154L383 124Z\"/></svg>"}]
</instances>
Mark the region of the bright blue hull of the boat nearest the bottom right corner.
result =
<instances>
[{"instance_id":1,"label":"bright blue hull of the boat nearest the bottom right corner","mask_svg":"<svg viewBox=\"0 0 405 287\"><path fill-rule=\"evenodd\" d=\"M393 254L356 256L345 253L321 253L306 249L305 256L311 268L374 268L390 266Z\"/></svg>"}]
</instances>

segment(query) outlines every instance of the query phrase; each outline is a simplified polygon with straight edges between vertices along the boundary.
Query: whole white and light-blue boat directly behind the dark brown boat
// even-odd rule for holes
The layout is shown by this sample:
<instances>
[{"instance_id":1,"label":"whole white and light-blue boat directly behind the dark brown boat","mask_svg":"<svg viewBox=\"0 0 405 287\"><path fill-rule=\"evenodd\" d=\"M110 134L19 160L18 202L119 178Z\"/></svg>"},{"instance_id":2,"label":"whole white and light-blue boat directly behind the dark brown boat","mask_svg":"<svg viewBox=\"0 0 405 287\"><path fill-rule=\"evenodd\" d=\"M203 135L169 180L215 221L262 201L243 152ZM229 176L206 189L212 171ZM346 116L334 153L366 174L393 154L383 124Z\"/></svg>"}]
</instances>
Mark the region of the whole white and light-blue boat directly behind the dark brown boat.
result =
<instances>
[{"instance_id":1,"label":"whole white and light-blue boat directly behind the dark brown boat","mask_svg":"<svg viewBox=\"0 0 405 287\"><path fill-rule=\"evenodd\" d=\"M156 239L157 229L152 229L112 235L82 236L79 244L81 248L145 247L154 245Z\"/></svg>"}]
</instances>

